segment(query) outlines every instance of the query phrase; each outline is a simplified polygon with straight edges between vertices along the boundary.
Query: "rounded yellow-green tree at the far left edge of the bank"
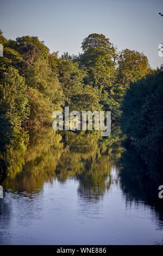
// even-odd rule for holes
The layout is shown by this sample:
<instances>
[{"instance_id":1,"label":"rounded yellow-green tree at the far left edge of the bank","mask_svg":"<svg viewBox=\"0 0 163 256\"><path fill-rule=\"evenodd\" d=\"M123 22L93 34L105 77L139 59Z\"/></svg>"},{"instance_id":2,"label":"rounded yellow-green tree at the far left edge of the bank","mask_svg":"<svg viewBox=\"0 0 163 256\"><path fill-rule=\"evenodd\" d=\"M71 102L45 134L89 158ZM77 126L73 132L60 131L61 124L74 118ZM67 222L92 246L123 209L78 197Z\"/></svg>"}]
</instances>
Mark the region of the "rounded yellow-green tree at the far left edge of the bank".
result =
<instances>
[{"instance_id":1,"label":"rounded yellow-green tree at the far left edge of the bank","mask_svg":"<svg viewBox=\"0 0 163 256\"><path fill-rule=\"evenodd\" d=\"M0 106L2 116L19 124L28 117L27 85L15 68L9 67L0 83Z\"/></svg>"}]
</instances>

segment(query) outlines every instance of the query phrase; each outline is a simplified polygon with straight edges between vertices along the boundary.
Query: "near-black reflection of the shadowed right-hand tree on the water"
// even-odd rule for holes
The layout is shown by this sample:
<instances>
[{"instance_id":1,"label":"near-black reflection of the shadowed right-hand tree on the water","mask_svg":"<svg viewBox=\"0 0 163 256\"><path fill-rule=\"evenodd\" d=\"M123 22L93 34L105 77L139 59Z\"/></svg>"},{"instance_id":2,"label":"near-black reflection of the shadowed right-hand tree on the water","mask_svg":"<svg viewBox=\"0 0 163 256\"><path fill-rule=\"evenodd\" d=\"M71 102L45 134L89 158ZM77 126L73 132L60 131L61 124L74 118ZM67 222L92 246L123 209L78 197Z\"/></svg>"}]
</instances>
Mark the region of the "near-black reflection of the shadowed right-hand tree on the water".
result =
<instances>
[{"instance_id":1,"label":"near-black reflection of the shadowed right-hand tree on the water","mask_svg":"<svg viewBox=\"0 0 163 256\"><path fill-rule=\"evenodd\" d=\"M158 188L163 184L162 172L156 172L146 166L131 146L127 146L122 154L122 162L120 182L126 195L127 207L131 207L132 204L137 207L142 204L145 207L150 206L150 211L155 215L157 228L162 229L163 201L158 196Z\"/></svg>"}]
</instances>

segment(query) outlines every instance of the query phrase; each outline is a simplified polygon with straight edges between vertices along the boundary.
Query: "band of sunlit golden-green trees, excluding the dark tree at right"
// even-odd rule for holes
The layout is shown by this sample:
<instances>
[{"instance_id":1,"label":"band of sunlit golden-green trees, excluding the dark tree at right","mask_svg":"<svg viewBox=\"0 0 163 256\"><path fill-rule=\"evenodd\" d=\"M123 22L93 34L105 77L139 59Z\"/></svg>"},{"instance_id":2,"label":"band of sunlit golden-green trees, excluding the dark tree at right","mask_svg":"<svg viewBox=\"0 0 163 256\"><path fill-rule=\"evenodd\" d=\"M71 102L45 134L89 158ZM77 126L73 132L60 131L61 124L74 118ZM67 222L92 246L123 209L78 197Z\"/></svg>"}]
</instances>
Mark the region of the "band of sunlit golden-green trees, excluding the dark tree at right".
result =
<instances>
[{"instance_id":1,"label":"band of sunlit golden-green trees, excluding the dark tree at right","mask_svg":"<svg viewBox=\"0 0 163 256\"><path fill-rule=\"evenodd\" d=\"M50 53L37 36L22 36L14 41L5 39L1 32L0 42L4 45L4 57L0 58L2 114L6 111L8 118L12 116L12 121L26 125L49 123L51 113L64 105L69 106L70 111L111 111L111 119L116 121L124 111L121 104L129 84L153 72L143 53L126 49L118 56L114 45L103 34L87 36L82 42L83 53L79 56L70 56L66 52L58 57L58 52ZM11 78L11 70L15 78ZM14 89L14 79L18 79L17 88L21 83L27 84L21 87L24 88L22 101ZM136 86L134 84L131 88ZM23 106L21 111L18 105L5 106L4 95L8 90L11 94L12 87L15 100L11 102L19 102ZM27 106L26 113L24 106ZM45 113L48 113L47 117Z\"/></svg>"}]
</instances>

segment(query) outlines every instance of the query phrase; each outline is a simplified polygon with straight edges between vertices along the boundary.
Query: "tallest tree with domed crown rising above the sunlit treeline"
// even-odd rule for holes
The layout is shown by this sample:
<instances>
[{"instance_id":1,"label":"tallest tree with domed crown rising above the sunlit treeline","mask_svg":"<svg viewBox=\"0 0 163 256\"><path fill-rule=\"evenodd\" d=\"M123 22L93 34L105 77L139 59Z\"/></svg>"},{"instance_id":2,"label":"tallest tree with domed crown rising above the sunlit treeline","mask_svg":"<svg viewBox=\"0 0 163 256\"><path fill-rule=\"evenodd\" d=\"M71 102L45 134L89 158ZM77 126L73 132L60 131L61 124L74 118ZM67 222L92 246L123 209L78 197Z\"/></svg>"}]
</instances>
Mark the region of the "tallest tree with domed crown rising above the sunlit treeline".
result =
<instances>
[{"instance_id":1,"label":"tallest tree with domed crown rising above the sunlit treeline","mask_svg":"<svg viewBox=\"0 0 163 256\"><path fill-rule=\"evenodd\" d=\"M114 76L116 49L104 35L90 34L82 42L79 60L86 67L85 83L109 89Z\"/></svg>"}]
</instances>

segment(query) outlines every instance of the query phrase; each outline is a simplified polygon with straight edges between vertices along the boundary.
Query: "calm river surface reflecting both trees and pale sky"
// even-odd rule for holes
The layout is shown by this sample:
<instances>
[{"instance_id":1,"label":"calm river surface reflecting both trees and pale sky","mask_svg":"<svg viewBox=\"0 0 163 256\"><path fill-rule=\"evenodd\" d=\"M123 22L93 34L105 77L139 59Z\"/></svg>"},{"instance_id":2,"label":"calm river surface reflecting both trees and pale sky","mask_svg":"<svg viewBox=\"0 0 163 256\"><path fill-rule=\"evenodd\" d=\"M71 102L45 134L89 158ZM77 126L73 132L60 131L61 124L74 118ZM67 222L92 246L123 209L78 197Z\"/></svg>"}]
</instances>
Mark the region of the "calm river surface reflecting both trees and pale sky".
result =
<instances>
[{"instance_id":1,"label":"calm river surface reflecting both trees and pale sky","mask_svg":"<svg viewBox=\"0 0 163 256\"><path fill-rule=\"evenodd\" d=\"M125 136L119 127L113 126L111 136L105 138L98 131L56 132L51 127L24 131L10 124L6 131L7 139L3 141L4 135L0 137L3 142L0 184L4 187L4 198L0 199L1 243L23 243L20 236L13 240L10 229L14 232L18 229L18 234L24 235L22 225L34 225L33 230L39 229L40 224L36 224L39 219L43 220L39 232L50 232L51 225L55 223L54 229L59 229L60 224L64 236L73 225L72 230L76 233L81 228L79 225L96 222L95 233L102 228L97 244L100 241L108 243L104 236L109 237L112 244L130 243L129 237L136 236L135 226L126 231L131 217L134 219L130 226L136 223L137 216L143 216L148 221L152 219L155 230L163 229L163 201L158 198L158 187L161 182L163 184L162 175L149 170L133 148L122 146ZM120 215L117 216L117 212ZM54 215L58 223L49 214ZM69 224L71 227L65 223L65 216L67 223L74 221ZM73 216L72 220L70 216ZM13 221L17 222L17 228L10 228ZM101 224L98 226L98 223ZM160 244L162 239L153 233L153 225L148 230L153 235L151 243ZM6 241L3 229L9 230ZM124 233L123 241L122 236L113 238L114 233L118 234L120 230ZM29 239L28 244L37 244L41 239L40 233L35 235L38 236L36 242ZM137 243L143 241L141 239ZM82 244L76 240L54 242L49 237L45 243L50 241ZM87 243L96 244L96 239L89 237Z\"/></svg>"}]
</instances>

